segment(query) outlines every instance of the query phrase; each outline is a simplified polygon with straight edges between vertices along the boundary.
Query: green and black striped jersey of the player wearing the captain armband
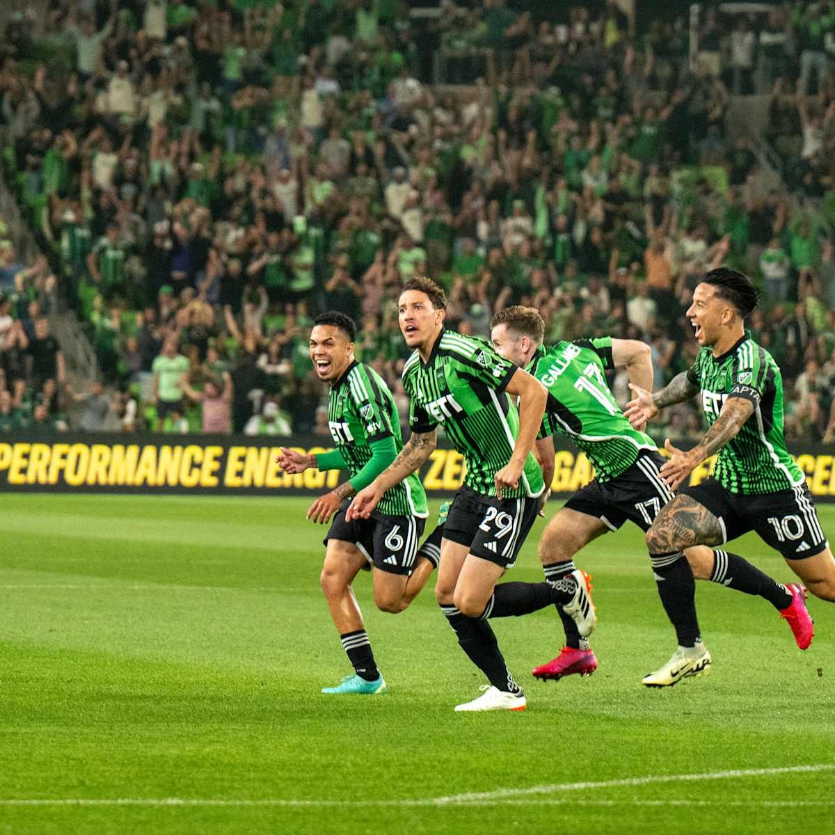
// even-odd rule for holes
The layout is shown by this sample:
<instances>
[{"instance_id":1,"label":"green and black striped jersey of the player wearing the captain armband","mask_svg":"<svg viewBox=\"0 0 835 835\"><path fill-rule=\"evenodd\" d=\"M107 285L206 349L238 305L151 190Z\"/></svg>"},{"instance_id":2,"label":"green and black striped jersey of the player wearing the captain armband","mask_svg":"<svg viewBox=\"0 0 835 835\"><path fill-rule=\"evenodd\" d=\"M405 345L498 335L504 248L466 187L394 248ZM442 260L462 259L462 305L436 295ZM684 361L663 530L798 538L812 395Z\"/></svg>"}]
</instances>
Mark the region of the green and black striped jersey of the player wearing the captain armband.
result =
<instances>
[{"instance_id":1,"label":"green and black striped jersey of the player wearing the captain armband","mask_svg":"<svg viewBox=\"0 0 835 835\"><path fill-rule=\"evenodd\" d=\"M714 357L696 355L687 378L701 390L707 425L716 423L728 397L745 397L754 413L716 456L716 478L731 493L776 493L803 483L783 435L782 375L770 353L747 336Z\"/></svg>"}]
</instances>

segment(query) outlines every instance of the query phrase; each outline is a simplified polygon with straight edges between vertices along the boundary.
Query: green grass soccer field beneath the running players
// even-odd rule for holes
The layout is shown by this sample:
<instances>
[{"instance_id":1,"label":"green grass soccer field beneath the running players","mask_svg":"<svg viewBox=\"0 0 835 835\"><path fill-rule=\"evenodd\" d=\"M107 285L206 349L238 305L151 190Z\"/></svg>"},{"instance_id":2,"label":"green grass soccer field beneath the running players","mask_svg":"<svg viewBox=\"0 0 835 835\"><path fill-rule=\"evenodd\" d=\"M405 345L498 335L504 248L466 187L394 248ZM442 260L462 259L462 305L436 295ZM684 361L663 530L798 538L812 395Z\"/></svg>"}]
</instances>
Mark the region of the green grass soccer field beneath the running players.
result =
<instances>
[{"instance_id":1,"label":"green grass soccer field beneath the running players","mask_svg":"<svg viewBox=\"0 0 835 835\"><path fill-rule=\"evenodd\" d=\"M701 583L713 675L648 691L675 640L624 529L578 559L595 676L530 679L553 610L493 620L529 709L460 715L482 681L431 590L384 615L363 573L389 692L322 696L349 669L307 504L3 495L0 832L832 832L835 607L810 602L802 653L763 600ZM542 525L513 579L541 579Z\"/></svg>"}]
</instances>

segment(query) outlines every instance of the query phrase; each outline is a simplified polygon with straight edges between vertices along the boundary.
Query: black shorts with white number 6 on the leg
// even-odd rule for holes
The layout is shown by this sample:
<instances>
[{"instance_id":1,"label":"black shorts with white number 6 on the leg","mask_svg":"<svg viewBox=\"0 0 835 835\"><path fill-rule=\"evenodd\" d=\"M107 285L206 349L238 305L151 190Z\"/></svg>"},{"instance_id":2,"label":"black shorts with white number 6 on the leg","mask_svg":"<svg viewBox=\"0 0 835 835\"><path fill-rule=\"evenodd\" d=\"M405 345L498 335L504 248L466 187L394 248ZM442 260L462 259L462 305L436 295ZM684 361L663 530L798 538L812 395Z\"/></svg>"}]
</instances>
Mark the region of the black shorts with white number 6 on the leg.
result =
<instances>
[{"instance_id":1,"label":"black shorts with white number 6 on the leg","mask_svg":"<svg viewBox=\"0 0 835 835\"><path fill-rule=\"evenodd\" d=\"M350 542L362 551L374 568L388 574L411 574L417 559L417 542L423 535L425 519L417 516L388 516L373 511L370 519L345 518L351 499L342 502L331 521L328 539Z\"/></svg>"}]
</instances>

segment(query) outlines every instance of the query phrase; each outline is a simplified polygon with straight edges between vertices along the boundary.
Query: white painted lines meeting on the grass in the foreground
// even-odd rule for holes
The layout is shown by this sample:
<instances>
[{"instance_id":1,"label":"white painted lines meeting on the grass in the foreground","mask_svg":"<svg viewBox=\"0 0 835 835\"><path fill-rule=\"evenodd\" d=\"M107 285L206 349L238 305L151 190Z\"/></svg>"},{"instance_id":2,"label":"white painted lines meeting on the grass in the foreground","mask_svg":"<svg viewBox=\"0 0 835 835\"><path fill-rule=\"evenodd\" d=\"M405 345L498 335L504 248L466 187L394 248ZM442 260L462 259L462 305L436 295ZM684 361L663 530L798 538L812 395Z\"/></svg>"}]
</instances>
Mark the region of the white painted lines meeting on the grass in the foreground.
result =
<instances>
[{"instance_id":1,"label":"white painted lines meeting on the grass in the foreground","mask_svg":"<svg viewBox=\"0 0 835 835\"><path fill-rule=\"evenodd\" d=\"M579 805L579 806L710 806L721 807L797 807L797 806L835 806L835 801L721 801L715 804L701 800L640 800L637 798L618 800L589 800L585 798L534 798L535 794L556 792L588 791L600 788L618 788L626 786L650 786L666 782L694 782L702 780L729 780L738 777L771 777L777 774L808 774L835 770L835 764L818 763L810 766L787 766L782 768L746 768L726 772L708 772L702 774L658 774L649 777L625 777L620 780L601 780L596 782L554 783L550 786L529 788L498 789L494 792L469 792L444 797L403 798L402 800L291 800L283 798L263 799L225 799L200 797L36 797L36 798L0 798L0 807L31 806L141 806L141 807L446 807L446 806L502 806L502 805Z\"/></svg>"}]
</instances>

